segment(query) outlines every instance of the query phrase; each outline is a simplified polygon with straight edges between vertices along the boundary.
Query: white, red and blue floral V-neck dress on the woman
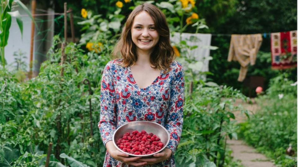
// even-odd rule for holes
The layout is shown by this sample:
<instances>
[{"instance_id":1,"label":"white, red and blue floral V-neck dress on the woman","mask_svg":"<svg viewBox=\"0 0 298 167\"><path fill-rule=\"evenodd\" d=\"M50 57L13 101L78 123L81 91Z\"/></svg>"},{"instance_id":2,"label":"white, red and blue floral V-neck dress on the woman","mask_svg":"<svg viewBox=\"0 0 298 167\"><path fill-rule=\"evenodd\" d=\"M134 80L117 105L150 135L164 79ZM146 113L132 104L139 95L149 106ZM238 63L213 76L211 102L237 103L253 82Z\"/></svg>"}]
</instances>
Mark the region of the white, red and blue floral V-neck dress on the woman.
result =
<instances>
[{"instance_id":1,"label":"white, red and blue floral V-neck dress on the woman","mask_svg":"<svg viewBox=\"0 0 298 167\"><path fill-rule=\"evenodd\" d=\"M101 83L101 113L98 127L103 144L112 140L114 131L131 121L153 121L170 134L166 148L172 156L163 162L147 166L175 166L174 152L180 141L183 124L184 74L180 63L173 61L166 74L163 71L147 88L139 88L130 67L119 65L120 59L107 63ZM129 166L106 152L103 166Z\"/></svg>"}]
</instances>

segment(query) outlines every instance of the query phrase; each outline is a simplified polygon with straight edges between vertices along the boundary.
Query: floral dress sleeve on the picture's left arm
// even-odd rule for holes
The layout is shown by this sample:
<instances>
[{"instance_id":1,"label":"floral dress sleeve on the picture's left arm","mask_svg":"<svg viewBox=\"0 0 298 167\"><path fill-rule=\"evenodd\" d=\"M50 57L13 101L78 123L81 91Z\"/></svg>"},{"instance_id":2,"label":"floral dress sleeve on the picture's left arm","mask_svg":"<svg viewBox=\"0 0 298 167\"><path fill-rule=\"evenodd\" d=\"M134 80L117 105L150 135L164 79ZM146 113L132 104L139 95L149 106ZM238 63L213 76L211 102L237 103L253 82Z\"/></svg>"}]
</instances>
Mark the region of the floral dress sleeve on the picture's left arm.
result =
<instances>
[{"instance_id":1,"label":"floral dress sleeve on the picture's left arm","mask_svg":"<svg viewBox=\"0 0 298 167\"><path fill-rule=\"evenodd\" d=\"M100 122L98 127L102 136L103 144L113 139L116 130L116 102L113 71L115 65L107 63L103 74L100 91Z\"/></svg>"}]
</instances>

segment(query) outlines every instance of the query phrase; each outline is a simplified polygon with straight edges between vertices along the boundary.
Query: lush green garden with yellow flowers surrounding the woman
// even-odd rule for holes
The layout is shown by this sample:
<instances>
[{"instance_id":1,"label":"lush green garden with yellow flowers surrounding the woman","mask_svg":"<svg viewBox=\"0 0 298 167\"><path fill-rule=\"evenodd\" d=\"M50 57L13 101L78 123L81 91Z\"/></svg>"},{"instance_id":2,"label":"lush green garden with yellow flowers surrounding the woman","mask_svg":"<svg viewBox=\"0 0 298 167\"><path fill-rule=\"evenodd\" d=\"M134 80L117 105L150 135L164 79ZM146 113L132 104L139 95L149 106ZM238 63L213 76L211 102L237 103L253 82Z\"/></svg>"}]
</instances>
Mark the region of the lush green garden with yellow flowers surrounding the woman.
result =
<instances>
[{"instance_id":1,"label":"lush green garden with yellow flowers surrounding the woman","mask_svg":"<svg viewBox=\"0 0 298 167\"><path fill-rule=\"evenodd\" d=\"M79 40L67 41L62 34L55 34L47 60L33 78L25 75L21 53L15 55L13 70L7 68L4 55L11 19L16 18L20 31L23 29L20 14L11 11L12 6L19 5L32 15L19 0L1 2L0 166L102 166L106 154L98 130L102 73L112 60L111 52L128 14L143 2L55 1L55 10L62 13L67 2L74 15L80 16L74 19L76 31L72 34ZM269 37L264 38L256 63L249 66L246 76L263 76L263 92L250 92L237 81L239 63L227 62L230 36L225 35L297 30L297 2L146 3L163 11L171 35L180 35L178 41L171 42L185 76L183 131L174 154L176 166L242 166L227 146L227 140L232 138L242 139L272 159L276 166L297 166L297 67L271 69ZM69 24L69 13L66 17ZM273 20L278 24L271 25ZM62 29L61 24L55 29ZM69 29L64 30L66 36L71 34ZM189 41L200 39L182 39L183 33L213 34L211 45L189 45ZM200 47L210 50L210 55L197 60L192 50ZM209 71L202 71L206 60ZM258 105L255 113L235 105L237 99L253 103L249 95ZM234 114L237 111L246 117L240 123ZM292 155L286 154L289 144Z\"/></svg>"}]
</instances>

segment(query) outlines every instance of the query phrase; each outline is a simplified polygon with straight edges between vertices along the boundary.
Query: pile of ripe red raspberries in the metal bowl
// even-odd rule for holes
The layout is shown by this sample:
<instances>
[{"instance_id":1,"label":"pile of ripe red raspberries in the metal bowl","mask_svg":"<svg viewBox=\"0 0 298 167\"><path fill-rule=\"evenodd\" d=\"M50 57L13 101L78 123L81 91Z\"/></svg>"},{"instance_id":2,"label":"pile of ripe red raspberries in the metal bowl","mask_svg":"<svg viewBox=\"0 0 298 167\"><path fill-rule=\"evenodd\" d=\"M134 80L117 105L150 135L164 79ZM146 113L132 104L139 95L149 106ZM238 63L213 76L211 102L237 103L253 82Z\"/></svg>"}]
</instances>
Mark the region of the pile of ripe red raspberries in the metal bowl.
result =
<instances>
[{"instance_id":1,"label":"pile of ripe red raspberries in the metal bowl","mask_svg":"<svg viewBox=\"0 0 298 167\"><path fill-rule=\"evenodd\" d=\"M159 137L145 130L135 130L131 134L127 132L116 143L118 148L134 155L152 154L164 146Z\"/></svg>"}]
</instances>

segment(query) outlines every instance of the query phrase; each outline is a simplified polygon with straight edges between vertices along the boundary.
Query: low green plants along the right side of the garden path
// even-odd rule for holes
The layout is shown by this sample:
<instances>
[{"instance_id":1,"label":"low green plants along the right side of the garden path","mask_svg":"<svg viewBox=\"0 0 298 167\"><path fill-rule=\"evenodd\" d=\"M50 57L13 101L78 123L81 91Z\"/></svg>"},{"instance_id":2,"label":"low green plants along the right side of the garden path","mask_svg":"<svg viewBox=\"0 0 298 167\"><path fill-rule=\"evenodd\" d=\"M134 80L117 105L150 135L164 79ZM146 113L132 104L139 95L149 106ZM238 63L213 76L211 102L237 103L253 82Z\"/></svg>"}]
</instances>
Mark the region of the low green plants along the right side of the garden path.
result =
<instances>
[{"instance_id":1,"label":"low green plants along the right side of the garden path","mask_svg":"<svg viewBox=\"0 0 298 167\"><path fill-rule=\"evenodd\" d=\"M281 166L295 166L285 154L289 144L297 152L297 82L282 73L270 80L266 95L256 99L260 109L240 124L239 136Z\"/></svg>"}]
</instances>

